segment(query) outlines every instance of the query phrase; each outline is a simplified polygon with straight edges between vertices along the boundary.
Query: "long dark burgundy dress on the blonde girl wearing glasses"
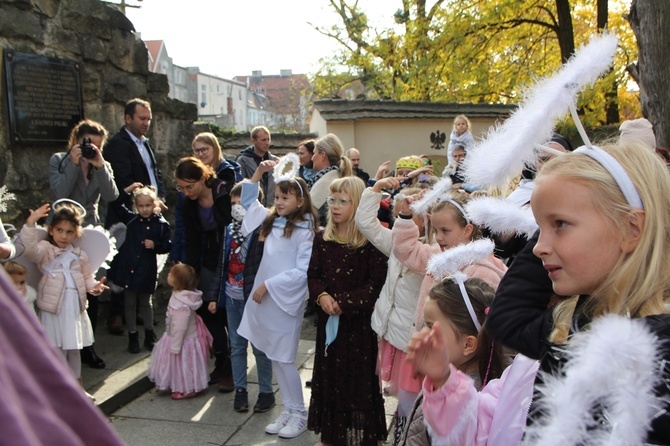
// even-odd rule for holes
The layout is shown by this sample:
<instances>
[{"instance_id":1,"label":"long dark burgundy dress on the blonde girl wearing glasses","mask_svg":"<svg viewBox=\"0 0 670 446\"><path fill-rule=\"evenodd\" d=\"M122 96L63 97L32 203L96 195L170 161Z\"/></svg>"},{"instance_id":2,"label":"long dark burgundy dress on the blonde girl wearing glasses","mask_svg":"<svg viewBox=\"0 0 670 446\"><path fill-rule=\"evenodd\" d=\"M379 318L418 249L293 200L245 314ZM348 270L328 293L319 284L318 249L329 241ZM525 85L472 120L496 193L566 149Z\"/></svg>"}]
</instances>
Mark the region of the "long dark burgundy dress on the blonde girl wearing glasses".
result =
<instances>
[{"instance_id":1,"label":"long dark burgundy dress on the blonde girl wearing glasses","mask_svg":"<svg viewBox=\"0 0 670 446\"><path fill-rule=\"evenodd\" d=\"M377 335L370 326L386 279L387 257L368 243L351 250L316 235L307 272L310 299L328 292L339 304L337 338L325 355L328 315L318 309L308 427L332 445L377 446L386 439L384 398L375 373Z\"/></svg>"}]
</instances>

